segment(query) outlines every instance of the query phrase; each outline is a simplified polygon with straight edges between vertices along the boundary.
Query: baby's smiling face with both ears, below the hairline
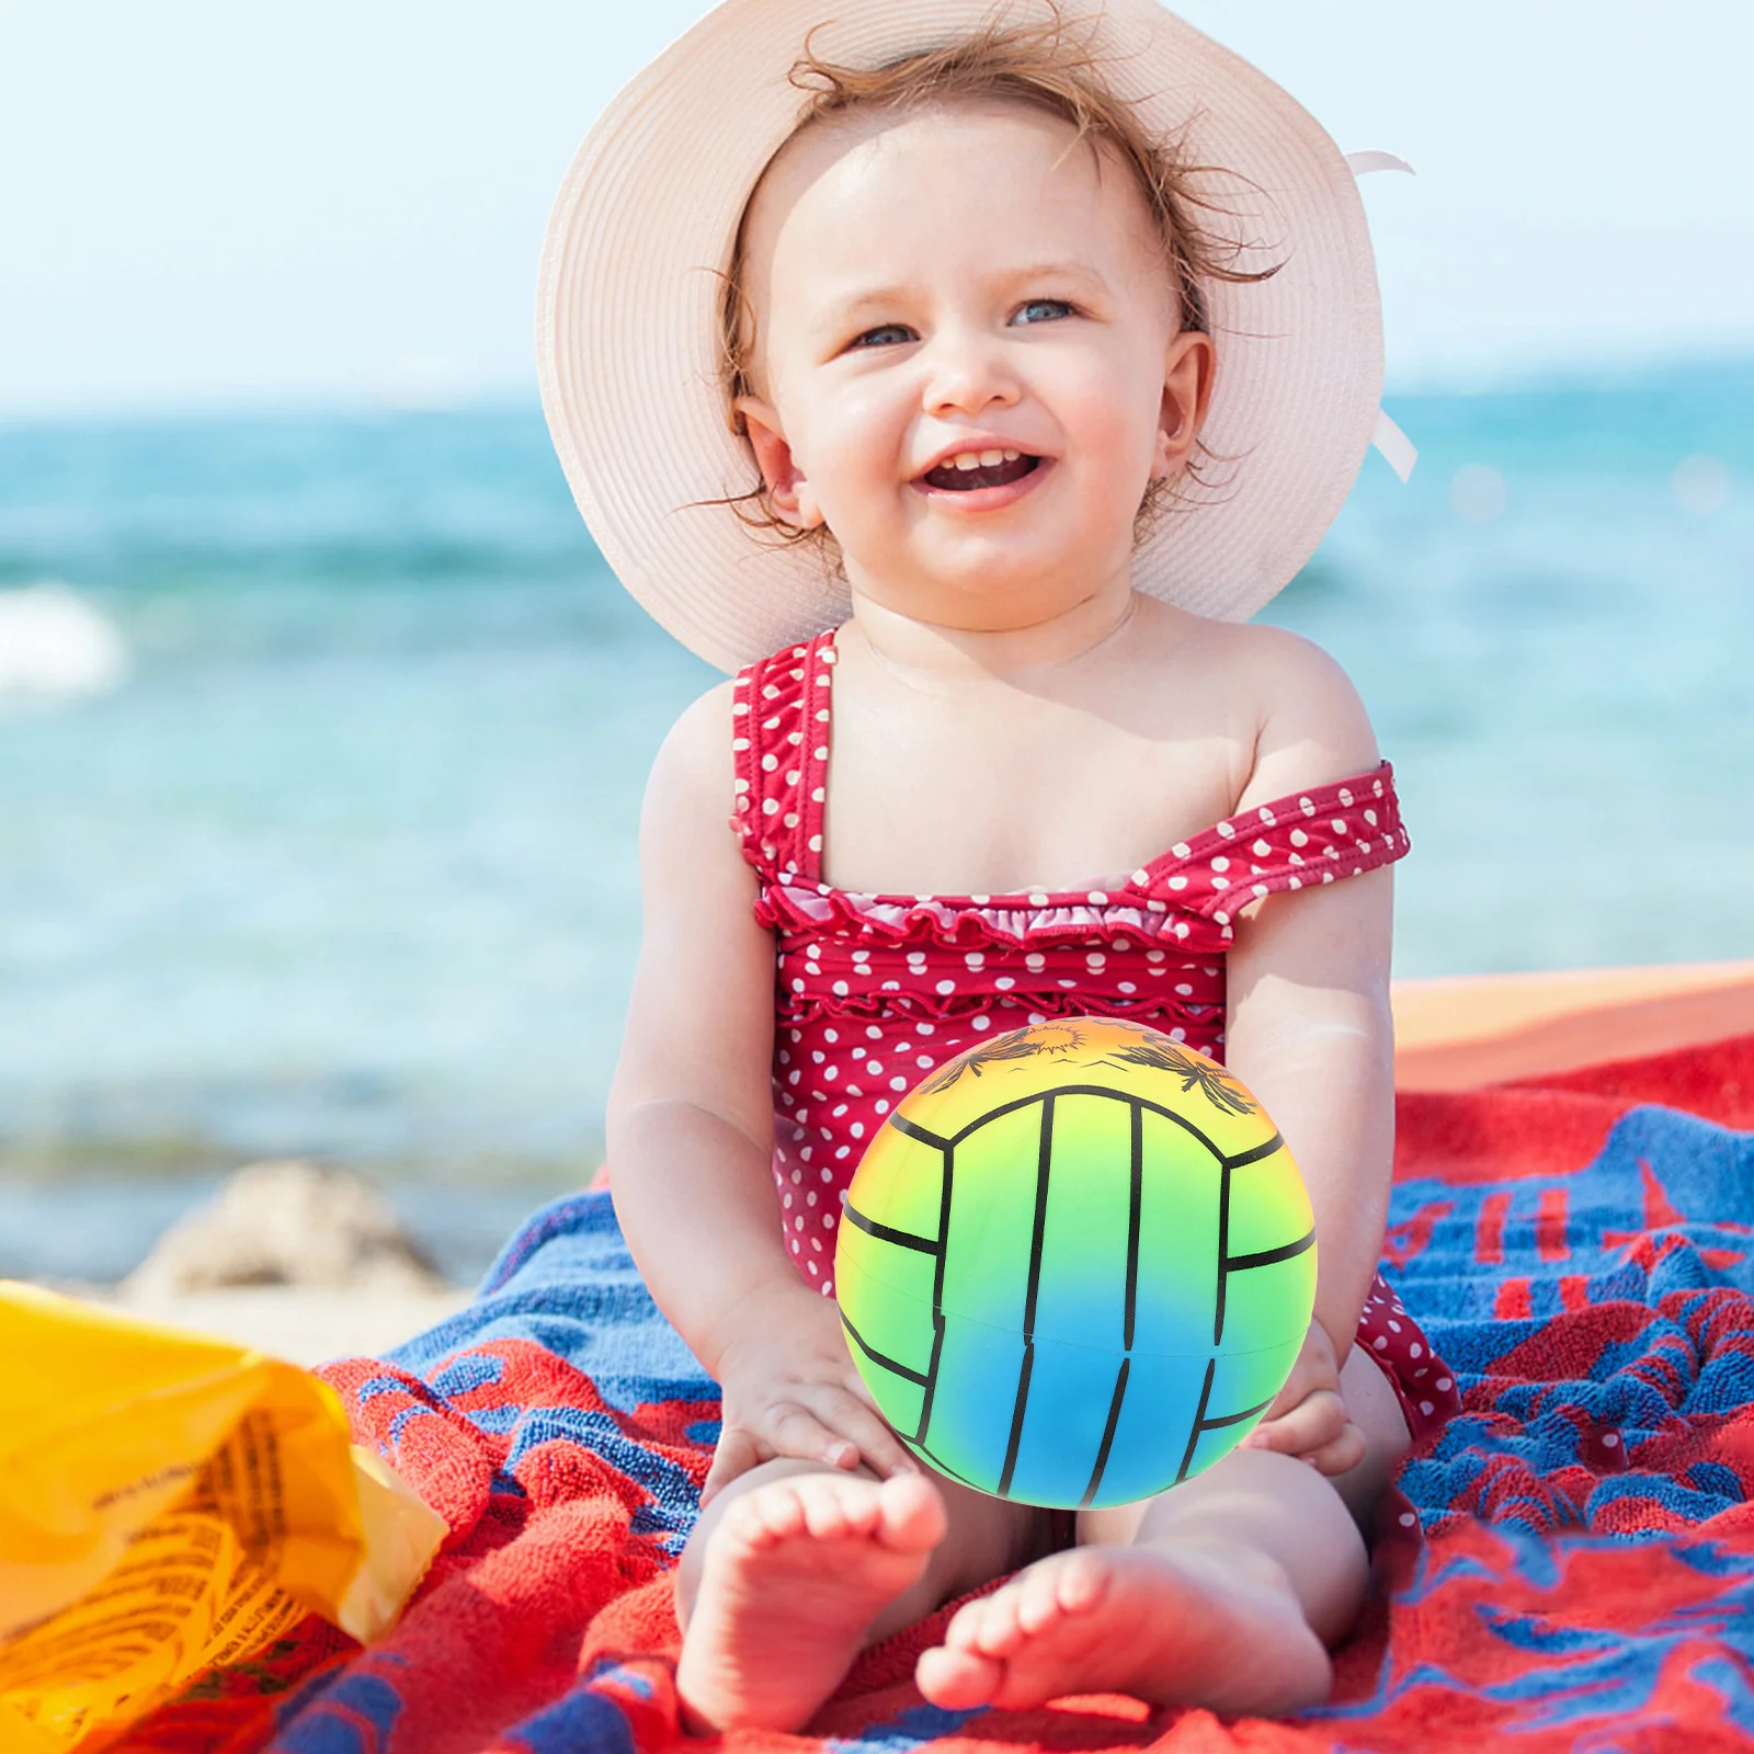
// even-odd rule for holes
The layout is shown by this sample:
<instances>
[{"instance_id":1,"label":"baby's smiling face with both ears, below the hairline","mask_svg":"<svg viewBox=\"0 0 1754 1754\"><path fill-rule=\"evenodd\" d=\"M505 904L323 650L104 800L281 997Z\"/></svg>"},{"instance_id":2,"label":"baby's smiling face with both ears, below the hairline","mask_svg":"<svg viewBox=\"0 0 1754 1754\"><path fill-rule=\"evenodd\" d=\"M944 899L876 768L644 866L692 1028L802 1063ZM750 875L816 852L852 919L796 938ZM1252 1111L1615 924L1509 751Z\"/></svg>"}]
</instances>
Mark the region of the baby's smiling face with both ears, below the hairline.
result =
<instances>
[{"instance_id":1,"label":"baby's smiling face with both ears, below the hairline","mask_svg":"<svg viewBox=\"0 0 1754 1754\"><path fill-rule=\"evenodd\" d=\"M1179 333L1117 160L1021 107L819 125L770 168L744 260L751 442L775 509L828 524L854 591L996 630L1130 574L1212 354Z\"/></svg>"}]
</instances>

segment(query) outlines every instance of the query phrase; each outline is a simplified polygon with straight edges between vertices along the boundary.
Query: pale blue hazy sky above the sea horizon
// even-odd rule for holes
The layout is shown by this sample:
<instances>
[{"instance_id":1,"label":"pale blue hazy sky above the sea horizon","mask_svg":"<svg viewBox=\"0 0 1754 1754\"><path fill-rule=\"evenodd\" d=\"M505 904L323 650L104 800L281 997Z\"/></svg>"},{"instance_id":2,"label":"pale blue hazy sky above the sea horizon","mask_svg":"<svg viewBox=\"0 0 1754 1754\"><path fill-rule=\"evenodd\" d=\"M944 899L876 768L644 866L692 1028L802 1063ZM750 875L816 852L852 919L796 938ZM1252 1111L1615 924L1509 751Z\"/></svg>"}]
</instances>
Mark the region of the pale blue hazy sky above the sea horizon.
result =
<instances>
[{"instance_id":1,"label":"pale blue hazy sky above the sea horizon","mask_svg":"<svg viewBox=\"0 0 1754 1754\"><path fill-rule=\"evenodd\" d=\"M0 0L0 417L533 396L547 207L700 0ZM1745 0L1187 0L1372 177L1398 388L1754 353Z\"/></svg>"}]
</instances>

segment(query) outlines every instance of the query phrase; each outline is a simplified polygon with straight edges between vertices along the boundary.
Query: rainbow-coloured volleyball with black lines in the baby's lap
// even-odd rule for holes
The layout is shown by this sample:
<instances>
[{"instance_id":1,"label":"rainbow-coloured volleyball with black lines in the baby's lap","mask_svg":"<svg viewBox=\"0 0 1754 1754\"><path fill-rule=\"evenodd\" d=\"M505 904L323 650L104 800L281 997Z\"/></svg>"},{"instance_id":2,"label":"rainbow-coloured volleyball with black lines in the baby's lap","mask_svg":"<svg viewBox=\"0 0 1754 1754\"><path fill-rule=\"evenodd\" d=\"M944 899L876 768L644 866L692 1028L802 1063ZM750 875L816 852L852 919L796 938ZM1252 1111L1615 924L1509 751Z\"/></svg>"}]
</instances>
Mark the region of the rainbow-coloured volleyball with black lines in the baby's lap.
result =
<instances>
[{"instance_id":1,"label":"rainbow-coloured volleyball with black lines in the baby's lap","mask_svg":"<svg viewBox=\"0 0 1754 1754\"><path fill-rule=\"evenodd\" d=\"M896 1107L847 1191L835 1289L923 1461L1021 1503L1116 1505L1266 1412L1308 1330L1316 1230L1223 1066L1140 1024L1056 1019Z\"/></svg>"}]
</instances>

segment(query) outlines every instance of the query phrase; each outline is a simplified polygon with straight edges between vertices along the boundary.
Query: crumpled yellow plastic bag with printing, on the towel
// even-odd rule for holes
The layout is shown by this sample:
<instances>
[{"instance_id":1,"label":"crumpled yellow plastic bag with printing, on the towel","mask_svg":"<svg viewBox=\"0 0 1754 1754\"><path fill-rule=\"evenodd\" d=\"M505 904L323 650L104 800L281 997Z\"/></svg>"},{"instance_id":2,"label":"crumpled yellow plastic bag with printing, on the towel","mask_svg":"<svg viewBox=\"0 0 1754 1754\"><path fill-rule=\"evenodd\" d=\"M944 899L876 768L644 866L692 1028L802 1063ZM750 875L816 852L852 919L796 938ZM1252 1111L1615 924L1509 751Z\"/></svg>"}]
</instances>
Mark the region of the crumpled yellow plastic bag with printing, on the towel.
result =
<instances>
[{"instance_id":1,"label":"crumpled yellow plastic bag with printing, on the towel","mask_svg":"<svg viewBox=\"0 0 1754 1754\"><path fill-rule=\"evenodd\" d=\"M0 1282L0 1754L67 1754L321 1614L361 1642L446 1524L293 1365Z\"/></svg>"}]
</instances>

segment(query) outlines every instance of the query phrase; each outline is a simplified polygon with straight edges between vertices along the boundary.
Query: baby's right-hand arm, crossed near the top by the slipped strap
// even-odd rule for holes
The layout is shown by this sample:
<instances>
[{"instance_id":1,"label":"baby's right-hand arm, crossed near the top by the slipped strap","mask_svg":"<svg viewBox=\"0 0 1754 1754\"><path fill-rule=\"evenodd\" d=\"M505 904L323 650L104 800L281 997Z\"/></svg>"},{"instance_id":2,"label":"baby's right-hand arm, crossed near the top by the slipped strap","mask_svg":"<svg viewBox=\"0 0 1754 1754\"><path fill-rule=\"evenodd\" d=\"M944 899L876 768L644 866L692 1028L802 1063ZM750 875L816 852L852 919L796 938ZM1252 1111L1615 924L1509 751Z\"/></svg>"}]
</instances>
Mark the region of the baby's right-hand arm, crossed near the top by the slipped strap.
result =
<instances>
[{"instance_id":1,"label":"baby's right-hand arm, crossed near the top by the slipped strap","mask_svg":"<svg viewBox=\"0 0 1754 1754\"><path fill-rule=\"evenodd\" d=\"M1277 630L1245 631L1265 647L1258 656L1270 709L1238 810L1373 768L1375 735L1338 665ZM1345 1422L1338 1368L1358 1331L1389 1203L1391 926L1393 879L1384 868L1265 898L1238 923L1230 954L1224 1058L1298 1159L1319 1258L1310 1347L1256 1442L1305 1454L1328 1473L1363 1454Z\"/></svg>"}]
</instances>

